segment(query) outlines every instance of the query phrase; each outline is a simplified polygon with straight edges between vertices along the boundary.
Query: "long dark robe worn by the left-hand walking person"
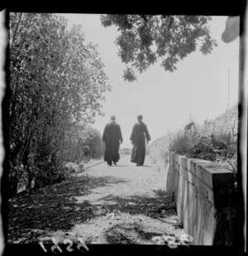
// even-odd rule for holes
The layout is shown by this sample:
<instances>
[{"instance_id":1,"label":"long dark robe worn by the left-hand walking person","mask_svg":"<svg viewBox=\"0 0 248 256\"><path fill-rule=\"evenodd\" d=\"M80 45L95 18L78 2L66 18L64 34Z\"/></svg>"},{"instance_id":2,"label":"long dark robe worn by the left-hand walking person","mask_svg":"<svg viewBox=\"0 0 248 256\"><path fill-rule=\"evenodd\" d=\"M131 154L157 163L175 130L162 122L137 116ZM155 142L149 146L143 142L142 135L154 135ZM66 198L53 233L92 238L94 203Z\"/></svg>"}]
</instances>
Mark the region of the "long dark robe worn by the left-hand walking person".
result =
<instances>
[{"instance_id":1,"label":"long dark robe worn by the left-hand walking person","mask_svg":"<svg viewBox=\"0 0 248 256\"><path fill-rule=\"evenodd\" d=\"M107 123L103 131L103 142L105 142L104 161L107 164L118 162L120 159L119 147L122 142L121 127L116 122Z\"/></svg>"}]
</instances>

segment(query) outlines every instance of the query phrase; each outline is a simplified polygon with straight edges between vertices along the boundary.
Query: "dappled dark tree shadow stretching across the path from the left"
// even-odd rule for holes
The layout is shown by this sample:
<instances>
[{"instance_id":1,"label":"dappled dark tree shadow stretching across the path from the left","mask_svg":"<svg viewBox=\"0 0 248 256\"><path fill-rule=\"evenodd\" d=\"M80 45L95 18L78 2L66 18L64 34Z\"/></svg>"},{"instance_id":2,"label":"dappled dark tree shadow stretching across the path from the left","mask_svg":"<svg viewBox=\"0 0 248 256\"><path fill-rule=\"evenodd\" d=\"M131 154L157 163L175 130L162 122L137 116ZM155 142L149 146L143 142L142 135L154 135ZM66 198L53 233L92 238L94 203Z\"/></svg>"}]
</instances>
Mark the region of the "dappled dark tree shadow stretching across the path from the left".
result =
<instances>
[{"instance_id":1,"label":"dappled dark tree shadow stretching across the path from the left","mask_svg":"<svg viewBox=\"0 0 248 256\"><path fill-rule=\"evenodd\" d=\"M120 210L130 215L146 215L150 218L175 215L174 205L163 191L154 191L155 195L150 197L104 196L99 199L102 202L99 205L92 204L89 200L79 202L75 199L75 197L91 195L95 188L129 181L129 179L113 176L90 176L89 178L74 176L69 181L46 186L39 191L18 194L10 199L8 204L8 243L20 239L23 241L21 243L38 243L38 237L47 232L58 230L67 232L74 225L83 224L99 216L101 207L107 208L108 212ZM114 205L110 205L110 201ZM103 215L106 215L107 211Z\"/></svg>"}]
</instances>

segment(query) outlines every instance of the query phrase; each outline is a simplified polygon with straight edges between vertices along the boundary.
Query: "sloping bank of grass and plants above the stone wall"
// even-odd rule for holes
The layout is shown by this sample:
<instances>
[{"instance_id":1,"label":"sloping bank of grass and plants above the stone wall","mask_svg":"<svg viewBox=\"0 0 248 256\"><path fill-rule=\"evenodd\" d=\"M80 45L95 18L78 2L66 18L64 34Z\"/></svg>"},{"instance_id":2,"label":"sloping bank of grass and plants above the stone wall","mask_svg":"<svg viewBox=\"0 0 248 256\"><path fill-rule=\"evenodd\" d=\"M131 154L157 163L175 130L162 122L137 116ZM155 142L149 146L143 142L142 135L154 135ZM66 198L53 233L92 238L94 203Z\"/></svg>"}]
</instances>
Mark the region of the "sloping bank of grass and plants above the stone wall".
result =
<instances>
[{"instance_id":1,"label":"sloping bank of grass and plants above the stone wall","mask_svg":"<svg viewBox=\"0 0 248 256\"><path fill-rule=\"evenodd\" d=\"M150 145L151 157L158 161L168 151L188 158L215 162L230 171L237 172L237 105L212 120L198 125L191 120L184 128L166 137L158 138Z\"/></svg>"}]
</instances>

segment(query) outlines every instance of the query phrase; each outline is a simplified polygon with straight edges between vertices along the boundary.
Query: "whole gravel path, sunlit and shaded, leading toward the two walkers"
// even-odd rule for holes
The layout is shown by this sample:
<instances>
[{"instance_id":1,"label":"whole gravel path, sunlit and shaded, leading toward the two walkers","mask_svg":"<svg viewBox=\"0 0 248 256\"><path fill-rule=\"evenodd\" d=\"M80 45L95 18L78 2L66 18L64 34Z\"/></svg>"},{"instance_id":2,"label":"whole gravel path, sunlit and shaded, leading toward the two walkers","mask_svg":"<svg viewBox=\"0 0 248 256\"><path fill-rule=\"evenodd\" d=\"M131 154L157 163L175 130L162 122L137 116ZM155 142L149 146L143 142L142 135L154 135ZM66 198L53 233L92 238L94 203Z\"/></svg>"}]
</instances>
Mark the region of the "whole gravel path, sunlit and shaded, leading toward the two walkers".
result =
<instances>
[{"instance_id":1,"label":"whole gravel path, sunlit and shaded, leading toward the two walkers","mask_svg":"<svg viewBox=\"0 0 248 256\"><path fill-rule=\"evenodd\" d=\"M117 166L98 164L69 181L9 200L8 241L155 244L155 236L170 235L179 242L185 232L161 188L149 157L143 167L130 157Z\"/></svg>"}]
</instances>

